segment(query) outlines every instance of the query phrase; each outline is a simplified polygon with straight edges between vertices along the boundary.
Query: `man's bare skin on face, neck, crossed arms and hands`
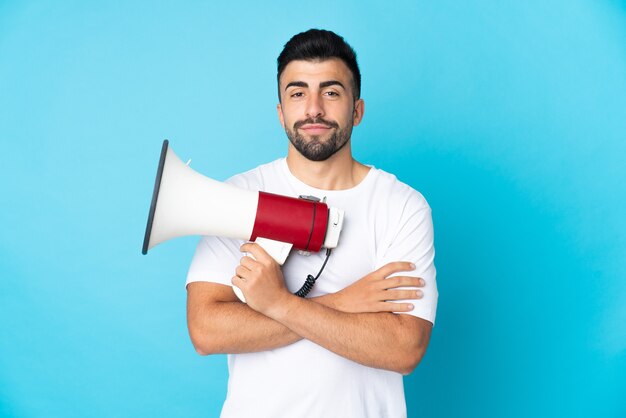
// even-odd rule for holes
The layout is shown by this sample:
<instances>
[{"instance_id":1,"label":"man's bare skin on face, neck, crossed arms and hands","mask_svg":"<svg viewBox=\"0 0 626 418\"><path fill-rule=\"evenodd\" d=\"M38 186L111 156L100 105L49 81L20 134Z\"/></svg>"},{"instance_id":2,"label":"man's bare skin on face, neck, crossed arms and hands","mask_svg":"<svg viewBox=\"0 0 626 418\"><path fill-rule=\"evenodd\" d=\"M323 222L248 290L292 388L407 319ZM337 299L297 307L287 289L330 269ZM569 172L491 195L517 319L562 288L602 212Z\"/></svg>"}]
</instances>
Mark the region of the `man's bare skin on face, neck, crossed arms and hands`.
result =
<instances>
[{"instance_id":1,"label":"man's bare skin on face, neck, crossed arms and hands","mask_svg":"<svg viewBox=\"0 0 626 418\"><path fill-rule=\"evenodd\" d=\"M351 81L341 60L292 61L280 78L281 125L307 142L328 141L339 129L351 133L365 109L363 100L353 97ZM305 120L334 123L298 123ZM348 140L326 160L311 161L290 142L287 164L294 176L313 187L352 188L369 168L352 158L350 145ZM412 264L389 263L337 293L304 299L286 289L280 266L263 248L247 243L241 251L252 257L242 254L232 283L242 290L247 304L230 286L196 282L187 287L187 322L198 353L264 351L305 338L360 364L402 374L410 373L422 359L432 324L397 315L413 307L391 302L422 297L422 279L389 277L413 270Z\"/></svg>"}]
</instances>

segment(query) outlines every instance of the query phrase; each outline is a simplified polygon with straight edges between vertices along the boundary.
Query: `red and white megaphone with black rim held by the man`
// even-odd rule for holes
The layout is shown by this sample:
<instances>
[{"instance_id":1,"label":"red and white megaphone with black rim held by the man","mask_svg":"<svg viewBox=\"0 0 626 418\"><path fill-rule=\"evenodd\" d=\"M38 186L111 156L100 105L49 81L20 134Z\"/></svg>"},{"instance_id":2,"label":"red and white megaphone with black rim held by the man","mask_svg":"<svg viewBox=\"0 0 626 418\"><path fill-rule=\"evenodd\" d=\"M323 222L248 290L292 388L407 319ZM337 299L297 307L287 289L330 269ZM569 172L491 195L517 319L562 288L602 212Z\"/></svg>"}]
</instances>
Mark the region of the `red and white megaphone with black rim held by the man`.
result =
<instances>
[{"instance_id":1,"label":"red and white megaphone with black rim held by the man","mask_svg":"<svg viewBox=\"0 0 626 418\"><path fill-rule=\"evenodd\" d=\"M206 177L163 141L142 253L187 235L255 241L280 265L291 248L336 248L344 212L310 197L245 190ZM243 294L233 287L241 300Z\"/></svg>"}]
</instances>

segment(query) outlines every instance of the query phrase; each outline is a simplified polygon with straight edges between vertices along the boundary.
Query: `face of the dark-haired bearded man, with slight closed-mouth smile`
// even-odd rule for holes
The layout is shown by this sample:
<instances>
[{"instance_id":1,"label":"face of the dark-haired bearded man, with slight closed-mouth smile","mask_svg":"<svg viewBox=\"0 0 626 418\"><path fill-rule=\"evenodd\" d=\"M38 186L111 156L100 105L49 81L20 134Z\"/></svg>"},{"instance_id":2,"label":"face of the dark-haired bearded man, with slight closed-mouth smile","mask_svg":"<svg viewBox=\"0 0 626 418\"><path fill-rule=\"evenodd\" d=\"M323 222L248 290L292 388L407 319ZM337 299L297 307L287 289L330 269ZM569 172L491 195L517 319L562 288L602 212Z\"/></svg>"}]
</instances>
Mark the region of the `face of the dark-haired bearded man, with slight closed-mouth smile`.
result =
<instances>
[{"instance_id":1,"label":"face of the dark-haired bearded man, with slight closed-mouth smile","mask_svg":"<svg viewBox=\"0 0 626 418\"><path fill-rule=\"evenodd\" d=\"M350 140L361 122L352 73L340 59L292 61L280 77L278 118L293 146L309 160L325 161Z\"/></svg>"}]
</instances>

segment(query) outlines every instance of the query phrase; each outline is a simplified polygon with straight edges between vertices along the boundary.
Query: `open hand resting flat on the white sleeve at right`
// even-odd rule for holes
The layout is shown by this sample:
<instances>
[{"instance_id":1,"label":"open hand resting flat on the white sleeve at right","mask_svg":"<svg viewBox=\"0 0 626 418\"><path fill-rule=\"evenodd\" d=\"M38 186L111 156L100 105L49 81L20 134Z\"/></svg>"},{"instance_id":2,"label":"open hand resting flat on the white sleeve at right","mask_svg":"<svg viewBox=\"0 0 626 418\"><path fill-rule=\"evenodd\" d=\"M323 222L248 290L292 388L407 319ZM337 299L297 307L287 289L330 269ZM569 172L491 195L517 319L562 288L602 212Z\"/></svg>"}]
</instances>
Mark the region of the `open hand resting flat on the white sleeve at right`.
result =
<instances>
[{"instance_id":1,"label":"open hand resting flat on the white sleeve at right","mask_svg":"<svg viewBox=\"0 0 626 418\"><path fill-rule=\"evenodd\" d=\"M331 305L343 312L408 312L413 310L410 303L396 303L394 300L421 299L419 289L398 289L399 287L423 287L424 280L412 276L394 276L394 273L414 270L412 263L397 261L385 264L378 270L357 280L345 289L335 293Z\"/></svg>"}]
</instances>

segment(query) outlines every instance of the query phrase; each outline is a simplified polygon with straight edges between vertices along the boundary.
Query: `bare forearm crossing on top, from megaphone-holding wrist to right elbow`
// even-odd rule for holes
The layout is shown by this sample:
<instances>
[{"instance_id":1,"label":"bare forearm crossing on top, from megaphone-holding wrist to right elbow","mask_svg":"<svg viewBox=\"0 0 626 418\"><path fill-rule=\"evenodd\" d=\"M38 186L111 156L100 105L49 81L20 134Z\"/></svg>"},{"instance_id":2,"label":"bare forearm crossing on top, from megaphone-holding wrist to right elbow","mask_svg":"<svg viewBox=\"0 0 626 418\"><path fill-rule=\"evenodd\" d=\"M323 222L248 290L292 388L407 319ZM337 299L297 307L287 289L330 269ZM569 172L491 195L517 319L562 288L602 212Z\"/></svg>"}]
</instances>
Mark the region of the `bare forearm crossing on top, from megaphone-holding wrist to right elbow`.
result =
<instances>
[{"instance_id":1,"label":"bare forearm crossing on top, from megaphone-holding wrist to right elbow","mask_svg":"<svg viewBox=\"0 0 626 418\"><path fill-rule=\"evenodd\" d=\"M340 312L297 297L266 314L342 357L402 374L417 366L430 337L430 323L419 318L388 312Z\"/></svg>"}]
</instances>

